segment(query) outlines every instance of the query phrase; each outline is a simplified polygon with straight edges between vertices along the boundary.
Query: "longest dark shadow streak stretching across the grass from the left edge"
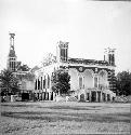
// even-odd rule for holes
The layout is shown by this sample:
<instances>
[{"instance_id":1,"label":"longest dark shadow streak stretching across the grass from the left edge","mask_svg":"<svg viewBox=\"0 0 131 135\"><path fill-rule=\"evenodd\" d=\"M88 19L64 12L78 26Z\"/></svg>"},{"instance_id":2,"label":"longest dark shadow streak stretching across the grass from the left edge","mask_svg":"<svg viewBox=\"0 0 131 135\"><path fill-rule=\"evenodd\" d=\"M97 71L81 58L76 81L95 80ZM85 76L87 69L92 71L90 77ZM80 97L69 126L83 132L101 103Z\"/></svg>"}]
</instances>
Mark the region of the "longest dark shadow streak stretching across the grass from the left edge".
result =
<instances>
[{"instance_id":1,"label":"longest dark shadow streak stretching across the grass from the left edge","mask_svg":"<svg viewBox=\"0 0 131 135\"><path fill-rule=\"evenodd\" d=\"M100 113L65 113L65 112L2 112L1 116L25 119L25 120L43 120L45 122L56 122L56 121L93 121L93 122L127 122L130 123L130 113L115 113L115 114L100 114Z\"/></svg>"}]
</instances>

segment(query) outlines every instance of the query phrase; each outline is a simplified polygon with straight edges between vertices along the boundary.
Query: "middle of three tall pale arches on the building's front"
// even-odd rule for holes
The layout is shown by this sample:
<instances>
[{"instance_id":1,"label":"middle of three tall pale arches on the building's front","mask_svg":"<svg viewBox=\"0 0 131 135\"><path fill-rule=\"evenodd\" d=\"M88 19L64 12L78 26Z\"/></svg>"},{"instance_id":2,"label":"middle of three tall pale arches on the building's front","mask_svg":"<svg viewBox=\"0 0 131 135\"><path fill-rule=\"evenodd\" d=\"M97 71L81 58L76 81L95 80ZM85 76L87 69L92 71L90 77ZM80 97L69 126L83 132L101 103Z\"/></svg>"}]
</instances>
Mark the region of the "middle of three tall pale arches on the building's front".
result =
<instances>
[{"instance_id":1,"label":"middle of three tall pale arches on the building's front","mask_svg":"<svg viewBox=\"0 0 131 135\"><path fill-rule=\"evenodd\" d=\"M93 87L93 83L94 83L94 72L91 69L86 69L83 72L83 77L84 77L84 89L89 89L89 87Z\"/></svg>"}]
</instances>

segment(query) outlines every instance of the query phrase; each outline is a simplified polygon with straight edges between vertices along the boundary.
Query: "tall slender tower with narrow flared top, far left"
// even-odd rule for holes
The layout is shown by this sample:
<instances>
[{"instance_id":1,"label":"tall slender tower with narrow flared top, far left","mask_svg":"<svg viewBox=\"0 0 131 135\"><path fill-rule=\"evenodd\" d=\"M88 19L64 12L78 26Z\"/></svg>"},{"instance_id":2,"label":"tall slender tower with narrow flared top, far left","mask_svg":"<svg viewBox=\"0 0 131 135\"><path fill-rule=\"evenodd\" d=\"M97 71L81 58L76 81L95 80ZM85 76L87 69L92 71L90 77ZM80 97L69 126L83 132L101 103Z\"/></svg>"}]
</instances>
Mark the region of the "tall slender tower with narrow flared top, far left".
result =
<instances>
[{"instance_id":1,"label":"tall slender tower with narrow flared top, far left","mask_svg":"<svg viewBox=\"0 0 131 135\"><path fill-rule=\"evenodd\" d=\"M10 52L8 56L8 69L11 71L16 71L16 55L14 50L14 36L15 33L9 33L10 35Z\"/></svg>"}]
</instances>

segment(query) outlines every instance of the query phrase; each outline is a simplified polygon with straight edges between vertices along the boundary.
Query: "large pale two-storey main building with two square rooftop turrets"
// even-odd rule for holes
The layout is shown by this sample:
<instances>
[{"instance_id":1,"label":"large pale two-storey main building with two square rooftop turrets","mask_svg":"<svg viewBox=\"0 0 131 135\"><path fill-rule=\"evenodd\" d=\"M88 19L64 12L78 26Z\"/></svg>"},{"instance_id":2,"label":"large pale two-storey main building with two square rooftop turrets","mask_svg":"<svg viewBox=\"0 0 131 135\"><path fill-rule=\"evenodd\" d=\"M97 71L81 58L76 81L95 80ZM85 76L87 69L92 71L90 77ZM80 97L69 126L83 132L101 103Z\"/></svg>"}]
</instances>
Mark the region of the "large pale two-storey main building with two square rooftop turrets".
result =
<instances>
[{"instance_id":1,"label":"large pale two-storey main building with two square rooftop turrets","mask_svg":"<svg viewBox=\"0 0 131 135\"><path fill-rule=\"evenodd\" d=\"M78 100L112 102L115 76L115 50L107 49L103 60L68 57L68 42L60 41L56 46L56 57L48 66L35 71L36 97L40 100L53 100L51 78L55 70L65 69L70 75L71 96Z\"/></svg>"}]
</instances>

